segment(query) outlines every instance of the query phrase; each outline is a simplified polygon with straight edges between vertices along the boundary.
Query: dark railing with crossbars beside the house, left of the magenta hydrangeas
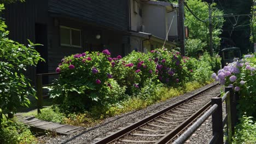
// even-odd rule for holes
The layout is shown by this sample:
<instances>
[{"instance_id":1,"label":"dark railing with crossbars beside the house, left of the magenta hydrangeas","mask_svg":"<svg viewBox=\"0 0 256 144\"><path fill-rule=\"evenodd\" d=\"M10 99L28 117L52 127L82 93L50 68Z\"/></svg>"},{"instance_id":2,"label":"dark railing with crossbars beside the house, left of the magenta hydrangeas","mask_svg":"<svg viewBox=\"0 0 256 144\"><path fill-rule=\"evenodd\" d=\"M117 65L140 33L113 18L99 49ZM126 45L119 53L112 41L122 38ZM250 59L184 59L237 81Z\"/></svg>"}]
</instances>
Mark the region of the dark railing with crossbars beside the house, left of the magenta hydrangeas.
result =
<instances>
[{"instance_id":1,"label":"dark railing with crossbars beside the house, left of the magenta hydrangeas","mask_svg":"<svg viewBox=\"0 0 256 144\"><path fill-rule=\"evenodd\" d=\"M36 75L36 88L37 88L37 112L43 108L43 98L48 97L48 95L43 95L44 87L54 86L53 83L48 83L43 85L43 76L59 75L60 73L45 73ZM47 78L48 79L48 78Z\"/></svg>"}]
</instances>

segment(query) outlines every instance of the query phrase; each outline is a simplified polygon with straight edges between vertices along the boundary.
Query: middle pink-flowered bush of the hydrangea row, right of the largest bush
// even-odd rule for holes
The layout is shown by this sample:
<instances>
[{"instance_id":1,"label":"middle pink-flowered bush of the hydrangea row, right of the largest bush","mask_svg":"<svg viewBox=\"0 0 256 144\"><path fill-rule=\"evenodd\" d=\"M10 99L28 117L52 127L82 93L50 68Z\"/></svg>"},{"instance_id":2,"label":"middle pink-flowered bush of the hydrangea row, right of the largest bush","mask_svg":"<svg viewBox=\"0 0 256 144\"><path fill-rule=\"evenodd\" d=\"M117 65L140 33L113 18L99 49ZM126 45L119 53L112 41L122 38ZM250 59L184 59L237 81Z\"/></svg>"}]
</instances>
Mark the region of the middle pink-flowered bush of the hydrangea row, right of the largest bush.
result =
<instances>
[{"instance_id":1,"label":"middle pink-flowered bush of the hydrangea row, right of the largest bush","mask_svg":"<svg viewBox=\"0 0 256 144\"><path fill-rule=\"evenodd\" d=\"M131 52L122 59L113 58L113 77L119 85L126 86L126 93L133 94L146 85L149 79L155 79L155 63L142 52Z\"/></svg>"}]
</instances>

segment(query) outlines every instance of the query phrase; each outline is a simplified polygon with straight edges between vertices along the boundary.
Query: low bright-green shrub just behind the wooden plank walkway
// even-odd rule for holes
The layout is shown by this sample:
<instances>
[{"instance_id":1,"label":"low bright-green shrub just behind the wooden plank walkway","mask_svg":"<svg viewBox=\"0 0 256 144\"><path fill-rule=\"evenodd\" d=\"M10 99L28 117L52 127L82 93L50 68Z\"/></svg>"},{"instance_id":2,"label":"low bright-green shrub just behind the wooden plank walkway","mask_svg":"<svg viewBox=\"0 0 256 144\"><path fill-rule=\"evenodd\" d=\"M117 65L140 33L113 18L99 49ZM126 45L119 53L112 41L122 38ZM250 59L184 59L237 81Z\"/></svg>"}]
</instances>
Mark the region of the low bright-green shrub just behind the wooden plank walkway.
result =
<instances>
[{"instance_id":1,"label":"low bright-green shrub just behind the wooden plank walkway","mask_svg":"<svg viewBox=\"0 0 256 144\"><path fill-rule=\"evenodd\" d=\"M62 123L65 115L60 112L59 107L47 107L41 110L41 113L36 115L37 118L43 119L44 121L51 121L56 123Z\"/></svg>"}]
</instances>

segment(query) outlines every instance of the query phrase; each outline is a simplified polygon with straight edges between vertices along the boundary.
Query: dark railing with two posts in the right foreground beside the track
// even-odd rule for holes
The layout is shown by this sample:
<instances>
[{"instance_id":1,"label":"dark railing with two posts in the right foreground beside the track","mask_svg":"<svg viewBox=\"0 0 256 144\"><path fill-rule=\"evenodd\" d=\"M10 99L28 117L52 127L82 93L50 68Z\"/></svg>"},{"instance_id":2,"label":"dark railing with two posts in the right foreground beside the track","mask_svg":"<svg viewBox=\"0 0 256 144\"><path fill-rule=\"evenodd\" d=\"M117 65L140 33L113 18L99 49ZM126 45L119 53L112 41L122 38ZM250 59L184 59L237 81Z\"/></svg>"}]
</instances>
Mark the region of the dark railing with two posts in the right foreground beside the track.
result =
<instances>
[{"instance_id":1,"label":"dark railing with two posts in the right foreground beside the track","mask_svg":"<svg viewBox=\"0 0 256 144\"><path fill-rule=\"evenodd\" d=\"M212 134L213 137L209 143L224 143L223 127L228 126L228 143L231 143L232 134L234 134L234 127L237 121L236 117L236 97L232 87L225 87L225 94L222 98L212 98L212 106L200 118L197 119L181 136L173 143L184 143L200 125L212 115ZM222 103L226 102L226 115L223 120Z\"/></svg>"}]
</instances>

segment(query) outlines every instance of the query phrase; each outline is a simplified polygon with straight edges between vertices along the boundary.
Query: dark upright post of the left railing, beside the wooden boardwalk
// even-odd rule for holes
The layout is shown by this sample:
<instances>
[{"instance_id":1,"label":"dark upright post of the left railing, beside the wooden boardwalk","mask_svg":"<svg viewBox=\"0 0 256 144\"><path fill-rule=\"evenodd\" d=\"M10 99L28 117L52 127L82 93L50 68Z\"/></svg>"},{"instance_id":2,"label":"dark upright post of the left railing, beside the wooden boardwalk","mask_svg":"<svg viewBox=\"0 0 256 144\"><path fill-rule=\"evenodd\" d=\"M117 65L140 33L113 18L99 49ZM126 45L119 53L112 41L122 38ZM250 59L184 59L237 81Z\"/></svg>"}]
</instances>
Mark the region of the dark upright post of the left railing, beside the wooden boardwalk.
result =
<instances>
[{"instance_id":1,"label":"dark upright post of the left railing, beside the wooden boardwalk","mask_svg":"<svg viewBox=\"0 0 256 144\"><path fill-rule=\"evenodd\" d=\"M42 74L37 74L37 113L41 113L40 109L43 108L43 78Z\"/></svg>"}]
</instances>

